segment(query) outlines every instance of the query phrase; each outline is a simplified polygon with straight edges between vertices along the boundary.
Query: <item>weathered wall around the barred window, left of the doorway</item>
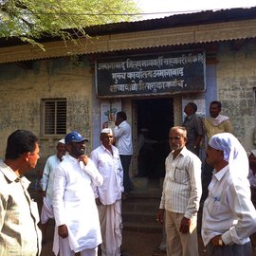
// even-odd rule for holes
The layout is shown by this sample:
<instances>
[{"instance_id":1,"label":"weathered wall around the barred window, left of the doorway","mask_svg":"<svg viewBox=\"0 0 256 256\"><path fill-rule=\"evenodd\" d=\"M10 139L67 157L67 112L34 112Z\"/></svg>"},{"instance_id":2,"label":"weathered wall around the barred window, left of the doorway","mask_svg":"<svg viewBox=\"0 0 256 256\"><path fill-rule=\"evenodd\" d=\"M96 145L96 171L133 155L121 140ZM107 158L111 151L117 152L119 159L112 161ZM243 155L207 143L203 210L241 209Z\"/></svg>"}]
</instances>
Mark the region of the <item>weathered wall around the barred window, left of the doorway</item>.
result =
<instances>
[{"instance_id":1,"label":"weathered wall around the barred window, left of the doorway","mask_svg":"<svg viewBox=\"0 0 256 256\"><path fill-rule=\"evenodd\" d=\"M81 66L70 64L69 58L34 61L32 68L5 64L0 69L0 155L3 157L9 134L27 129L40 137L41 159L56 152L61 137L42 137L41 99L65 98L67 132L78 130L92 137L92 74L84 59ZM89 145L90 147L90 145Z\"/></svg>"}]
</instances>

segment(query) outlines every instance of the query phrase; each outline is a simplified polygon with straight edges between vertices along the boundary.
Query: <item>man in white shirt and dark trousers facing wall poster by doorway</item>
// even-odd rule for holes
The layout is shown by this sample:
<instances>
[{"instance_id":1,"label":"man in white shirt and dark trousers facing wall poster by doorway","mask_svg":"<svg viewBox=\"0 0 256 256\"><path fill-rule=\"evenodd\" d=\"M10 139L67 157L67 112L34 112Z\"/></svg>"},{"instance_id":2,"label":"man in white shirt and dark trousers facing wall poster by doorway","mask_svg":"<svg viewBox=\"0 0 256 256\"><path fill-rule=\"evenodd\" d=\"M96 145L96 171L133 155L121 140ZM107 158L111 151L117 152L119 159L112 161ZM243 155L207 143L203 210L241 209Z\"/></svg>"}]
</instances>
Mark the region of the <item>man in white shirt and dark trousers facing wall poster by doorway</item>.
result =
<instances>
[{"instance_id":1,"label":"man in white shirt and dark trousers facing wall poster by doorway","mask_svg":"<svg viewBox=\"0 0 256 256\"><path fill-rule=\"evenodd\" d=\"M129 195L129 192L132 191L134 187L129 176L130 162L133 155L132 129L126 119L127 116L125 112L118 112L115 122L116 127L113 131L123 168L123 187L125 197Z\"/></svg>"}]
</instances>

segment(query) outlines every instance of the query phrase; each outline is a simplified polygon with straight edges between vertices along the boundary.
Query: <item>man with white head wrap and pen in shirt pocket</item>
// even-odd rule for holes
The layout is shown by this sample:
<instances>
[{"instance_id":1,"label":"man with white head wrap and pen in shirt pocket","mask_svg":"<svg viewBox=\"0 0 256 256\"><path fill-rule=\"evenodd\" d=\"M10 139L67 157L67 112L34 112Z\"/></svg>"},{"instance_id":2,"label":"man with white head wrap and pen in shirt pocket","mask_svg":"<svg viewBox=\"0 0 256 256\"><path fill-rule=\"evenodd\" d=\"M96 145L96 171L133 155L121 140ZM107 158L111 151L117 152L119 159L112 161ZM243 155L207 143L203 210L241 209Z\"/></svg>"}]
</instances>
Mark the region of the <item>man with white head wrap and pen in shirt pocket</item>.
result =
<instances>
[{"instance_id":1,"label":"man with white head wrap and pen in shirt pocket","mask_svg":"<svg viewBox=\"0 0 256 256\"><path fill-rule=\"evenodd\" d=\"M236 137L210 138L206 152L214 171L204 203L202 239L209 256L251 255L249 235L256 230L250 200L247 153Z\"/></svg>"}]
</instances>

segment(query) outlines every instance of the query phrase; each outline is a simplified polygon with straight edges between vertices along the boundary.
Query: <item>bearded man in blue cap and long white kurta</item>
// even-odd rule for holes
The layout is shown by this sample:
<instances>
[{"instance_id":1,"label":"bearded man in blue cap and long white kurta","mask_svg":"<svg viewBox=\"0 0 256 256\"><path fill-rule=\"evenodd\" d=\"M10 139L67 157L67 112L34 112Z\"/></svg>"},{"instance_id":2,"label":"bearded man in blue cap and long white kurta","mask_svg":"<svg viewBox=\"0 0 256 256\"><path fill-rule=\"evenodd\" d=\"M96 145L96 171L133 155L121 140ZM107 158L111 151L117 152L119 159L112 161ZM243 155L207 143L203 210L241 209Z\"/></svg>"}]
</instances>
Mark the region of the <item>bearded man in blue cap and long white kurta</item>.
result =
<instances>
[{"instance_id":1,"label":"bearded man in blue cap and long white kurta","mask_svg":"<svg viewBox=\"0 0 256 256\"><path fill-rule=\"evenodd\" d=\"M91 184L101 186L103 178L85 155L85 141L74 131L64 137L69 155L54 175L53 210L56 222L53 251L60 256L97 256L101 227Z\"/></svg>"}]
</instances>

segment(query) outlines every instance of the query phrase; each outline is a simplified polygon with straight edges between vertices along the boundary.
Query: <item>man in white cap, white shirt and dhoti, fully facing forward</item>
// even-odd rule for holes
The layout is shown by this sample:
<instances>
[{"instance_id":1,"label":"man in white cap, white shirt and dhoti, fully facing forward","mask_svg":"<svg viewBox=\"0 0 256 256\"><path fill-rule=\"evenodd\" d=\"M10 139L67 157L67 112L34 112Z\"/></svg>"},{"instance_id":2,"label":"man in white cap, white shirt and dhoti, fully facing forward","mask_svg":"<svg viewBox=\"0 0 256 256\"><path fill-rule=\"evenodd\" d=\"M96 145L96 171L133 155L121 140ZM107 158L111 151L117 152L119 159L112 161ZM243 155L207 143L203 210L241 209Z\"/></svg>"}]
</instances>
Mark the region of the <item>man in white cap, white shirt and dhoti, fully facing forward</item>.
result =
<instances>
[{"instance_id":1,"label":"man in white cap, white shirt and dhoti, fully facing forward","mask_svg":"<svg viewBox=\"0 0 256 256\"><path fill-rule=\"evenodd\" d=\"M119 150L112 145L110 128L101 131L101 146L92 151L91 159L103 176L103 184L95 190L101 222L101 256L120 256L122 166Z\"/></svg>"}]
</instances>

